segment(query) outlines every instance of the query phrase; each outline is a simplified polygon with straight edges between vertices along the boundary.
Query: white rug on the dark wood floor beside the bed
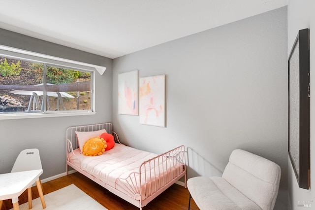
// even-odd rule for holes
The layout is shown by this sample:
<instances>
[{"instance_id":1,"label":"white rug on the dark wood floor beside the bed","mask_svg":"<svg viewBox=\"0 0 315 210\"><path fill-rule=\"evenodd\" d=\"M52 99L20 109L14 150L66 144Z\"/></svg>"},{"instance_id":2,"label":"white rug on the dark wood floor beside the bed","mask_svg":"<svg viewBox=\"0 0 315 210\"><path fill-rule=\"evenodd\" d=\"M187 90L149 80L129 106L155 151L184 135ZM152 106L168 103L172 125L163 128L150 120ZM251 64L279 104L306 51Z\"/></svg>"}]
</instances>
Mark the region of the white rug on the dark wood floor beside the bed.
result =
<instances>
[{"instance_id":1,"label":"white rug on the dark wood floor beside the bed","mask_svg":"<svg viewBox=\"0 0 315 210\"><path fill-rule=\"evenodd\" d=\"M44 195L45 210L106 210L88 194L74 184ZM40 198L32 200L32 210L43 210ZM28 210L29 203L20 205L20 210ZM13 210L13 209L11 209Z\"/></svg>"}]
</instances>

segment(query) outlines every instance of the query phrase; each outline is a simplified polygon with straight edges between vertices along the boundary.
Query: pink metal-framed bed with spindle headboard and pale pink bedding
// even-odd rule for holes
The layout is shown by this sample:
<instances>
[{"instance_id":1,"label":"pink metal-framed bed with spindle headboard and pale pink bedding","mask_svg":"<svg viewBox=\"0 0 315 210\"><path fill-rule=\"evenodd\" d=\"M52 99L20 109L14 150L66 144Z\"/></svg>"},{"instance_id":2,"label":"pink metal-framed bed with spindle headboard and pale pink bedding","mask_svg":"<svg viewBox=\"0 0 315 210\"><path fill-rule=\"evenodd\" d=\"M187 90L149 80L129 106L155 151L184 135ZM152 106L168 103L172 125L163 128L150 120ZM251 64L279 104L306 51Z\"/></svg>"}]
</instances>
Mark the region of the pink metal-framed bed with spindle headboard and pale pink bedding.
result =
<instances>
[{"instance_id":1,"label":"pink metal-framed bed with spindle headboard and pale pink bedding","mask_svg":"<svg viewBox=\"0 0 315 210\"><path fill-rule=\"evenodd\" d=\"M102 155L83 155L78 133L90 134L103 129L114 137L114 147ZM69 127L66 130L67 175L68 166L140 210L182 177L187 187L183 145L160 155L138 150L122 144L111 123Z\"/></svg>"}]
</instances>

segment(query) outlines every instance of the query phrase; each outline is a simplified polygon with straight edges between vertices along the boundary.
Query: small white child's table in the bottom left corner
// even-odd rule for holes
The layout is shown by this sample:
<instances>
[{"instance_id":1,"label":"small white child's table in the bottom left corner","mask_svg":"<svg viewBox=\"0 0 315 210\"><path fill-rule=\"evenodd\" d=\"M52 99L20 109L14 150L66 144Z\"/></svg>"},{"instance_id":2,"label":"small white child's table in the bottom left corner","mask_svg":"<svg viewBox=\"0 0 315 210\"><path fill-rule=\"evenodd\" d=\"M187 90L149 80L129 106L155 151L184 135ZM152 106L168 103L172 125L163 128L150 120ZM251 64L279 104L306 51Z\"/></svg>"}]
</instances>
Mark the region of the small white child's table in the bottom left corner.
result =
<instances>
[{"instance_id":1,"label":"small white child's table in the bottom left corner","mask_svg":"<svg viewBox=\"0 0 315 210\"><path fill-rule=\"evenodd\" d=\"M32 170L24 172L15 172L8 174L0 174L0 208L3 200L12 199L13 209L19 210L19 196L28 188L32 187L32 184L36 182L39 197L43 206L46 208L41 183L39 176L43 173L43 170ZM30 206L30 204L29 204ZM32 201L31 201L32 208Z\"/></svg>"}]
</instances>

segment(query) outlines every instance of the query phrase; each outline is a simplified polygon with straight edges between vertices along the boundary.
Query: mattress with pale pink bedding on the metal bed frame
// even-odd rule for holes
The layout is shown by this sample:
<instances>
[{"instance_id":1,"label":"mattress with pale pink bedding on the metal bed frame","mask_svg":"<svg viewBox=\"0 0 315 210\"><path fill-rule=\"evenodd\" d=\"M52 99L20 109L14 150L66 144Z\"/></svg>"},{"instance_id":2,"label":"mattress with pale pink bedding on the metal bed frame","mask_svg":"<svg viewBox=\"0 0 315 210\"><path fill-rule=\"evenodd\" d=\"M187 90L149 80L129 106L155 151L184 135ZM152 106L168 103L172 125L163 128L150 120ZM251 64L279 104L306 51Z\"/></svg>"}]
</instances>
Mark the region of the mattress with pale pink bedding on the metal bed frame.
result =
<instances>
[{"instance_id":1,"label":"mattress with pale pink bedding on the metal bed frame","mask_svg":"<svg viewBox=\"0 0 315 210\"><path fill-rule=\"evenodd\" d=\"M140 200L140 197L144 200L183 172L182 165L178 165L169 155L155 157L157 154L119 143L99 156L84 156L79 149L69 153L72 164L135 200ZM140 169L140 165L148 160Z\"/></svg>"}]
</instances>

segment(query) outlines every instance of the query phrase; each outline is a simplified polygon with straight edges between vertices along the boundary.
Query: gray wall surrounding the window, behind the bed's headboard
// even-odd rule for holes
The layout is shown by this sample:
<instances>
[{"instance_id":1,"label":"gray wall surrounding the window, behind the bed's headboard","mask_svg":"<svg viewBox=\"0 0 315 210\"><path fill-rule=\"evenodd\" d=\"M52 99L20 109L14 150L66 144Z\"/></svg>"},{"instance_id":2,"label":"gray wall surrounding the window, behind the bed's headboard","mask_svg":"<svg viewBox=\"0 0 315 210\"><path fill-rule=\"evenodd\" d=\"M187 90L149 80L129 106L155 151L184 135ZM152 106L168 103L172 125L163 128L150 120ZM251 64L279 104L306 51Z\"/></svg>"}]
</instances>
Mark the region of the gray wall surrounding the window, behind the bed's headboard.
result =
<instances>
[{"instance_id":1,"label":"gray wall surrounding the window, behind the bed's headboard","mask_svg":"<svg viewBox=\"0 0 315 210\"><path fill-rule=\"evenodd\" d=\"M65 130L69 126L112 121L112 59L0 29L0 44L107 67L95 72L95 115L0 120L0 174L8 173L19 152L38 148L41 179L65 172Z\"/></svg>"}]
</instances>

